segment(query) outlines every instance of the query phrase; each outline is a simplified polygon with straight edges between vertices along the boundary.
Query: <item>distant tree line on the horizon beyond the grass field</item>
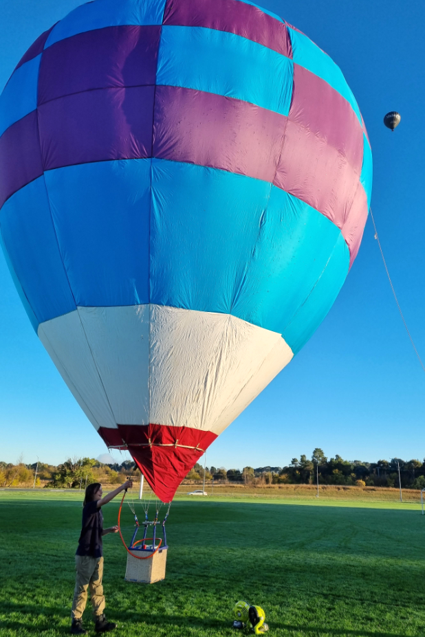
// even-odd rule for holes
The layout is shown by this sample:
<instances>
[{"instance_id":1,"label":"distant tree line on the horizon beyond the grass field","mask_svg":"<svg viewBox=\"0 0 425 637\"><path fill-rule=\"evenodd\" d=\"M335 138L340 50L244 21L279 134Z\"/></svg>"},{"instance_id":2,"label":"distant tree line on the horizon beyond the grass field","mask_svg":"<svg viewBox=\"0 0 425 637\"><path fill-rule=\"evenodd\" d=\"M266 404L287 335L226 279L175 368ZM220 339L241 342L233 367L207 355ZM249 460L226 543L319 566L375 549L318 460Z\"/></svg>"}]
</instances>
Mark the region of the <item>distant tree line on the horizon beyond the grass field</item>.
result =
<instances>
[{"instance_id":1,"label":"distant tree line on the horizon beyond the grass field","mask_svg":"<svg viewBox=\"0 0 425 637\"><path fill-rule=\"evenodd\" d=\"M399 481L400 469L400 481ZM134 462L126 460L120 464L104 464L94 458L68 458L61 465L34 462L25 465L19 458L15 464L0 462L0 487L37 487L53 489L83 489L90 482L122 484L128 476L137 478L140 471ZM197 462L188 472L187 480L204 480L204 467ZM287 467L206 467L206 482L234 482L239 484L336 484L357 487L401 487L402 489L425 489L425 459L344 460L336 455L327 458L322 449L316 447L311 458L301 455L292 458Z\"/></svg>"}]
</instances>

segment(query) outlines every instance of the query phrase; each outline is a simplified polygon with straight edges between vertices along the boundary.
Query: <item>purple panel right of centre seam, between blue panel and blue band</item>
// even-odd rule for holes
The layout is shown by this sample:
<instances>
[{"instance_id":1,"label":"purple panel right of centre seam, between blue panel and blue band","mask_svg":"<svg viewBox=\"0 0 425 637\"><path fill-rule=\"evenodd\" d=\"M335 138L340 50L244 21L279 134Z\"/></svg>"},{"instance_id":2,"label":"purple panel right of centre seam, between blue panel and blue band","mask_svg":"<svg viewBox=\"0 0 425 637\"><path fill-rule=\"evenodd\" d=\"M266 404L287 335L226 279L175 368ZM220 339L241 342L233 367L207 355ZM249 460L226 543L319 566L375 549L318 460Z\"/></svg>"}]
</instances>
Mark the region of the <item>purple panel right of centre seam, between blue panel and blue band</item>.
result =
<instances>
[{"instance_id":1,"label":"purple panel right of centre seam, between blue panel and blue band","mask_svg":"<svg viewBox=\"0 0 425 637\"><path fill-rule=\"evenodd\" d=\"M153 156L272 181L287 118L248 102L158 86Z\"/></svg>"}]
</instances>

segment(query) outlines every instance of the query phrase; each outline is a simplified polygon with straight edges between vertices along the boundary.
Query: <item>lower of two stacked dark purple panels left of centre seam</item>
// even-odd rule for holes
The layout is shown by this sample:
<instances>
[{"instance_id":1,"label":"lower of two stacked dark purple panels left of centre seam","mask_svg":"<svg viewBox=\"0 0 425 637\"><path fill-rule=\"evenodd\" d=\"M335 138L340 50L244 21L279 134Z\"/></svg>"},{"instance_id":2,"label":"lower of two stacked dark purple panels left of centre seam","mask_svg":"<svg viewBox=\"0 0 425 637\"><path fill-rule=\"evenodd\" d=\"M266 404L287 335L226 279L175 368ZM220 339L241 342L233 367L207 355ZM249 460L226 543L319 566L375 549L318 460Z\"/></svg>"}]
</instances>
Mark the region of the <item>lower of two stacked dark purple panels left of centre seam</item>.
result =
<instances>
[{"instance_id":1,"label":"lower of two stacked dark purple panels left of centre seam","mask_svg":"<svg viewBox=\"0 0 425 637\"><path fill-rule=\"evenodd\" d=\"M151 157L155 87L100 89L39 107L45 170Z\"/></svg>"}]
</instances>

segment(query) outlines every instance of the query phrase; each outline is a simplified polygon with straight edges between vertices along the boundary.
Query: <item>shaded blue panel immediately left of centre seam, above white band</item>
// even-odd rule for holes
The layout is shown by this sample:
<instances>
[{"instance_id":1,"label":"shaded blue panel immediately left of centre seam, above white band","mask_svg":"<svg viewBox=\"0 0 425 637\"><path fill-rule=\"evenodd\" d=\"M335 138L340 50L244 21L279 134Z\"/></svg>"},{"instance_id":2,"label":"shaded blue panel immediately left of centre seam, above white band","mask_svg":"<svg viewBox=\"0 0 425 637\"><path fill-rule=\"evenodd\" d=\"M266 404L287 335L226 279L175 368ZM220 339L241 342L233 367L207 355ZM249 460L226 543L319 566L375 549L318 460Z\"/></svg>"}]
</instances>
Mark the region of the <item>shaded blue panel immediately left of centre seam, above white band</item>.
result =
<instances>
[{"instance_id":1,"label":"shaded blue panel immediately left of centre seam, above white band","mask_svg":"<svg viewBox=\"0 0 425 637\"><path fill-rule=\"evenodd\" d=\"M149 302L151 159L67 166L45 179L76 304Z\"/></svg>"}]
</instances>

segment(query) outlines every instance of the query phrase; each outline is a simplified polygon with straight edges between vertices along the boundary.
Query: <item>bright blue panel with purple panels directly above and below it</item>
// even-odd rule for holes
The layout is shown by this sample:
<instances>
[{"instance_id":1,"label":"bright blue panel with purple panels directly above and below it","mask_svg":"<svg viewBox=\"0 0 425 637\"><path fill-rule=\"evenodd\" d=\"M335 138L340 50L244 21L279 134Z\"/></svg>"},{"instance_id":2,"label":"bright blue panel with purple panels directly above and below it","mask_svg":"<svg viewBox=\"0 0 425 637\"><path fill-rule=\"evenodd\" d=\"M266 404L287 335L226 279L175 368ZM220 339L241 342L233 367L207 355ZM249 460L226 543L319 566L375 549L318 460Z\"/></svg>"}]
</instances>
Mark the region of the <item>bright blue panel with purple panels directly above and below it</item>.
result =
<instances>
[{"instance_id":1,"label":"bright blue panel with purple panels directly above and below it","mask_svg":"<svg viewBox=\"0 0 425 637\"><path fill-rule=\"evenodd\" d=\"M292 60L233 33L162 27L158 85L216 93L287 115L293 74Z\"/></svg>"}]
</instances>

